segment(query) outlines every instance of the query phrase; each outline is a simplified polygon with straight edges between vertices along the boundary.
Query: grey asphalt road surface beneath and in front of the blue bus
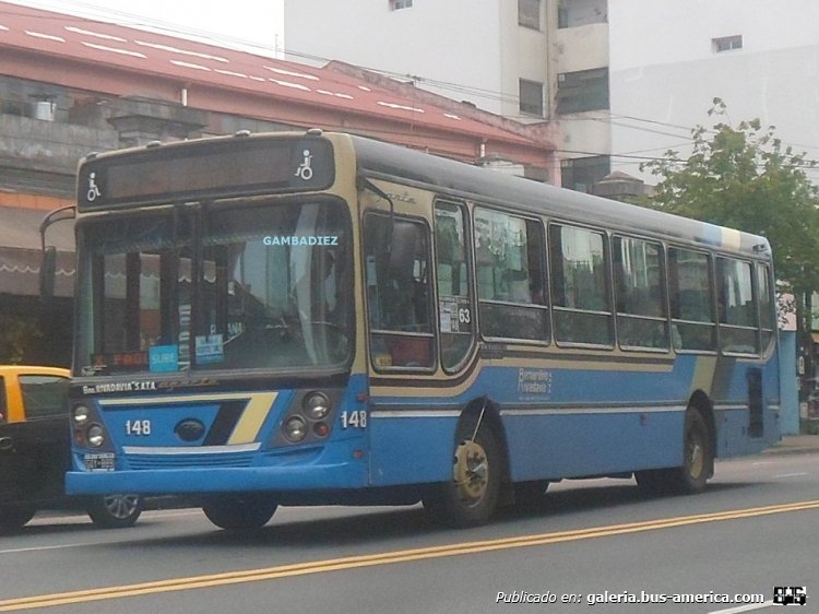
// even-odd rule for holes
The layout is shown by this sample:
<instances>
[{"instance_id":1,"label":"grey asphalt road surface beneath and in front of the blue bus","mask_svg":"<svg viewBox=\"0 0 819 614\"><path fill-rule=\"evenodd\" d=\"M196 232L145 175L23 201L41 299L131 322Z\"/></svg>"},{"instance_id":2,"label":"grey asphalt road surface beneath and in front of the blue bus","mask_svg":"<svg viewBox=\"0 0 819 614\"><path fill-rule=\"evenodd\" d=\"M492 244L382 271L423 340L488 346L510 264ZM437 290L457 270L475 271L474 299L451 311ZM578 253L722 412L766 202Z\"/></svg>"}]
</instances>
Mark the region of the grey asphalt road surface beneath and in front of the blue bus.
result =
<instances>
[{"instance_id":1,"label":"grey asphalt road surface beneath and in front of the blue bus","mask_svg":"<svg viewBox=\"0 0 819 614\"><path fill-rule=\"evenodd\" d=\"M463 531L419 507L281 508L244 536L190 509L145 512L123 531L40 516L0 538L0 612L764 613L780 607L779 586L806 587L794 611L819 612L819 452L716 472L686 497L563 482L539 509ZM723 602L736 595L767 603Z\"/></svg>"}]
</instances>

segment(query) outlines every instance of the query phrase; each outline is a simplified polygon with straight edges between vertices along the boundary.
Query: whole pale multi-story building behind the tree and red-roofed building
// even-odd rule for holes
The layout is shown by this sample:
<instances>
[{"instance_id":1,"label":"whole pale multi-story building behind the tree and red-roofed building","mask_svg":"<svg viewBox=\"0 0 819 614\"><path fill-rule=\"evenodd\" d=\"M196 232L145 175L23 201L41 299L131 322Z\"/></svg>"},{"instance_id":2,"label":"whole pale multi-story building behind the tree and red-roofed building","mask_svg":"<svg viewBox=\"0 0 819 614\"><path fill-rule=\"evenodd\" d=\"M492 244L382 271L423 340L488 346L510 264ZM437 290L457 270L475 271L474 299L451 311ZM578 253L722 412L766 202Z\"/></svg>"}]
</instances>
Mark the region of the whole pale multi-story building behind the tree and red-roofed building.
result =
<instances>
[{"instance_id":1,"label":"whole pale multi-story building behind the tree and red-roofed building","mask_svg":"<svg viewBox=\"0 0 819 614\"><path fill-rule=\"evenodd\" d=\"M554 121L562 185L589 191L685 155L715 97L819 158L817 21L814 0L286 0L285 46Z\"/></svg>"}]
</instances>

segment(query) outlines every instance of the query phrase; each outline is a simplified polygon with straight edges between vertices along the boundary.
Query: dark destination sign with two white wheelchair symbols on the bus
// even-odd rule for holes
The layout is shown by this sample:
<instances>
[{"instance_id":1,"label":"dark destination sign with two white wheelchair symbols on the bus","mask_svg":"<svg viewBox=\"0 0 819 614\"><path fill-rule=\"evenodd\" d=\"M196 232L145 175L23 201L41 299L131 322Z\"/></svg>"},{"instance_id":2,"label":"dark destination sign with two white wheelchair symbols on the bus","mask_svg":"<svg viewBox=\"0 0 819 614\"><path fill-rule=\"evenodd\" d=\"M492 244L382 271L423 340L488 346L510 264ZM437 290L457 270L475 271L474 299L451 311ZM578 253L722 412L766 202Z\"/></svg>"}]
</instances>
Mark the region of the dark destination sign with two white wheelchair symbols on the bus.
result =
<instances>
[{"instance_id":1,"label":"dark destination sign with two white wheelchair symbols on the bus","mask_svg":"<svg viewBox=\"0 0 819 614\"><path fill-rule=\"evenodd\" d=\"M85 161L78 205L82 212L322 190L334 179L333 147L324 139L189 141Z\"/></svg>"}]
</instances>

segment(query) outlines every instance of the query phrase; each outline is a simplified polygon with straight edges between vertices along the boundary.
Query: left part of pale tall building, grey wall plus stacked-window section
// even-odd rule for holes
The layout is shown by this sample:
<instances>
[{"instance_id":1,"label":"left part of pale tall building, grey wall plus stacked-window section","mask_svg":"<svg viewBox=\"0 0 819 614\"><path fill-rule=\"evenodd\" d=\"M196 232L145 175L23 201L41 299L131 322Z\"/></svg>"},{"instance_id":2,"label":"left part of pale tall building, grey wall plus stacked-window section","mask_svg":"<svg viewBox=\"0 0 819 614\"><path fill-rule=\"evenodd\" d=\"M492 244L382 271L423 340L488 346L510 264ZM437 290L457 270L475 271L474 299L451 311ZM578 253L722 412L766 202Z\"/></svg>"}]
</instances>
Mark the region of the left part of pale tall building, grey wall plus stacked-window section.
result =
<instances>
[{"instance_id":1,"label":"left part of pale tall building, grey wall plus stacked-window section","mask_svg":"<svg viewBox=\"0 0 819 614\"><path fill-rule=\"evenodd\" d=\"M285 47L287 57L342 60L559 126L565 187L591 191L612 170L600 121L608 118L606 0L285 0Z\"/></svg>"}]
</instances>

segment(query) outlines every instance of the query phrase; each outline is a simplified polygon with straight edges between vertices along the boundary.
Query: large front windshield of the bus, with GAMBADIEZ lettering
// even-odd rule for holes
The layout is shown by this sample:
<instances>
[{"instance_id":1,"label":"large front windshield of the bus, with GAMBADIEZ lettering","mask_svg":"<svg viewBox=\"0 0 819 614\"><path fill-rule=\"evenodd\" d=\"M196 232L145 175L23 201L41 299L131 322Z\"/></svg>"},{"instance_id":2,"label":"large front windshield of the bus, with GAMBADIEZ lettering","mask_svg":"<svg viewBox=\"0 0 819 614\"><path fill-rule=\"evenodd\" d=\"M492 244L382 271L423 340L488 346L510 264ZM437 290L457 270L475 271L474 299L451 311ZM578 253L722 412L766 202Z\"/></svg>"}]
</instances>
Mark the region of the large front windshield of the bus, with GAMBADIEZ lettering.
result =
<instances>
[{"instance_id":1,"label":"large front windshield of the bus, with GAMBADIEZ lettering","mask_svg":"<svg viewBox=\"0 0 819 614\"><path fill-rule=\"evenodd\" d=\"M319 199L87 221L79 374L345 364L349 233L346 206Z\"/></svg>"}]
</instances>

